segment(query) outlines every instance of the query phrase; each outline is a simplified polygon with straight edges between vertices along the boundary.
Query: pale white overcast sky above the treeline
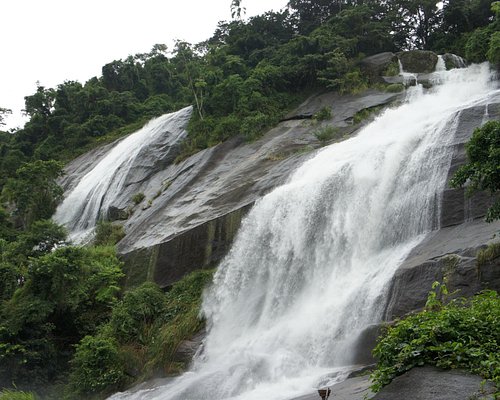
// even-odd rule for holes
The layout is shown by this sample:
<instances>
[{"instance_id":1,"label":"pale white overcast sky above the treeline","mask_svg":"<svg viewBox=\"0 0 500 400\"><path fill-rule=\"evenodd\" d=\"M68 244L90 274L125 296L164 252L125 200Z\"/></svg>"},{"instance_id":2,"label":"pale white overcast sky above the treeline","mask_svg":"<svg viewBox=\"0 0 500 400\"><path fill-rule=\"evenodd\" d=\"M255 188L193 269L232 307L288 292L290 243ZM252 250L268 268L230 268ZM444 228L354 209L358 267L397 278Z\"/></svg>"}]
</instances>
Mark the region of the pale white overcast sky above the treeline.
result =
<instances>
[{"instance_id":1,"label":"pale white overcast sky above the treeline","mask_svg":"<svg viewBox=\"0 0 500 400\"><path fill-rule=\"evenodd\" d=\"M280 10L287 0L243 0L246 17ZM55 87L84 83L101 67L155 43L208 39L229 20L231 0L2 0L0 4L0 107L7 128L24 124L24 96L36 82Z\"/></svg>"}]
</instances>

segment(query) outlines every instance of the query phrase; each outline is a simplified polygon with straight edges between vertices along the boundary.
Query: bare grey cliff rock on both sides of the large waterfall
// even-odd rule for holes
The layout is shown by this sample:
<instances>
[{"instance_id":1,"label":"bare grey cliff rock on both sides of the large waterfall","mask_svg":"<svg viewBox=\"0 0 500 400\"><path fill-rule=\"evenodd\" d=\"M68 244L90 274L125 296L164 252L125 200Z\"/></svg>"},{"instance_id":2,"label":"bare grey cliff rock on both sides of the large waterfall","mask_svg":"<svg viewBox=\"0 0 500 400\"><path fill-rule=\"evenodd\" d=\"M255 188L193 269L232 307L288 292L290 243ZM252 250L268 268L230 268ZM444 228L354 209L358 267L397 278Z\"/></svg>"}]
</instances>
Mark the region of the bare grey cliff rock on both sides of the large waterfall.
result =
<instances>
[{"instance_id":1,"label":"bare grey cliff rock on both sides of the large waterfall","mask_svg":"<svg viewBox=\"0 0 500 400\"><path fill-rule=\"evenodd\" d=\"M428 52L411 52L399 55L399 59L405 69L416 71L416 77L427 77L428 70L437 62L437 57ZM448 67L459 67L462 62L452 56L443 59ZM368 75L384 77L395 60L398 60L396 55L383 53L364 60L362 66ZM126 261L128 284L149 279L166 287L193 269L217 263L228 250L249 207L283 183L296 166L321 147L314 135L319 127L336 127L336 140L341 140L363 124L358 118L360 111L369 114L366 110L379 109L402 96L373 89L348 96L318 93L253 143L233 138L178 164L172 162L175 149L166 151L158 146L145 152L140 168L131 171L126 190L107 210L109 217L120 220L117 223L125 227L126 236L119 242L118 250ZM461 113L452 144L450 176L464 162L464 143L473 129L485 119L499 118L499 104L499 99L492 99L487 110L473 107ZM314 122L312 117L323 108L331 111L331 118ZM185 125L187 121L186 117ZM109 147L70 163L63 182L65 188L71 189L76 179L99 162ZM144 195L140 204L131 200L136 193ZM481 221L487 202L486 195L468 198L460 189L445 191L441 229L415 249L397 273L387 318L420 307L429 283L449 274L447 260L451 255L456 256L455 275L459 276L465 265L470 265L466 268L467 274L470 273L477 249L498 231L498 225ZM457 287L468 285L464 294L487 285L488 275L484 271L476 276L476 281L463 273L465 283L455 278L451 282ZM496 282L494 277L487 279L492 284Z\"/></svg>"}]
</instances>

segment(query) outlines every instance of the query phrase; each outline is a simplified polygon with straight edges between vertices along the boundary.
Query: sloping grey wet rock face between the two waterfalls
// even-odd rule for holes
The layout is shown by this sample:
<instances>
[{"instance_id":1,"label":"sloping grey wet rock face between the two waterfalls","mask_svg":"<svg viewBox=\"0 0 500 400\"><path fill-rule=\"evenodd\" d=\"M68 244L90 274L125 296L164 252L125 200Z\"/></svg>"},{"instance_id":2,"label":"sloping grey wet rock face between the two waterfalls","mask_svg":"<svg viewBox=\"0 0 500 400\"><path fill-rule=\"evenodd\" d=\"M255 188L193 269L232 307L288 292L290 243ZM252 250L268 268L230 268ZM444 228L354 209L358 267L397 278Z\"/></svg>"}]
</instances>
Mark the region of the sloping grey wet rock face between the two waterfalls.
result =
<instances>
[{"instance_id":1,"label":"sloping grey wet rock face between the two waterfalls","mask_svg":"<svg viewBox=\"0 0 500 400\"><path fill-rule=\"evenodd\" d=\"M127 234L118 244L127 284L154 280L168 287L194 269L214 265L227 252L251 205L284 183L321 147L315 130L334 125L348 136L364 123L353 123L357 112L399 98L401 94L377 90L347 96L317 94L253 143L233 138L178 164L172 163L175 151L166 159L161 145L144 154L108 210L111 219L121 220ZM330 120L302 119L325 107L332 111ZM76 177L104 154L104 149L97 149L69 164L64 186L73 187ZM132 198L138 193L144 199L134 204Z\"/></svg>"}]
</instances>

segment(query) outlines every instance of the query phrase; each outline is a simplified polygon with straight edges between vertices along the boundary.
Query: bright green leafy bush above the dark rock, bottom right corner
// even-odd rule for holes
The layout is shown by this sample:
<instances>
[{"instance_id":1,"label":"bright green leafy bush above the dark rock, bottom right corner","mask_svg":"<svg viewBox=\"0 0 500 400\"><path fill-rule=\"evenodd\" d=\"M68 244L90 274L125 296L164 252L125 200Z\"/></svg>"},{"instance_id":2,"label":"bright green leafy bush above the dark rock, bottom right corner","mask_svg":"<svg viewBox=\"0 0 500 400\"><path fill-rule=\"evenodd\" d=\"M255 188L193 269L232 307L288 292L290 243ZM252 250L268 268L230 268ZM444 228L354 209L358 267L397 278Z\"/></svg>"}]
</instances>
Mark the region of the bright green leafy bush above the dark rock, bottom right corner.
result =
<instances>
[{"instance_id":1,"label":"bright green leafy bush above the dark rock, bottom right corner","mask_svg":"<svg viewBox=\"0 0 500 400\"><path fill-rule=\"evenodd\" d=\"M442 305L439 294L431 292L426 309L388 327L373 354L378 359L371 376L375 391L424 364L466 369L493 380L499 388L500 298L486 291Z\"/></svg>"}]
</instances>

